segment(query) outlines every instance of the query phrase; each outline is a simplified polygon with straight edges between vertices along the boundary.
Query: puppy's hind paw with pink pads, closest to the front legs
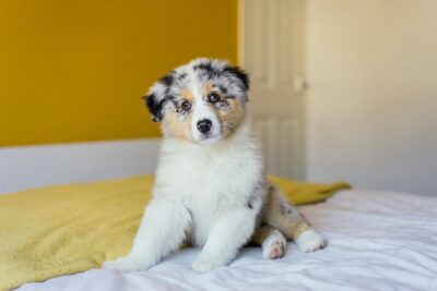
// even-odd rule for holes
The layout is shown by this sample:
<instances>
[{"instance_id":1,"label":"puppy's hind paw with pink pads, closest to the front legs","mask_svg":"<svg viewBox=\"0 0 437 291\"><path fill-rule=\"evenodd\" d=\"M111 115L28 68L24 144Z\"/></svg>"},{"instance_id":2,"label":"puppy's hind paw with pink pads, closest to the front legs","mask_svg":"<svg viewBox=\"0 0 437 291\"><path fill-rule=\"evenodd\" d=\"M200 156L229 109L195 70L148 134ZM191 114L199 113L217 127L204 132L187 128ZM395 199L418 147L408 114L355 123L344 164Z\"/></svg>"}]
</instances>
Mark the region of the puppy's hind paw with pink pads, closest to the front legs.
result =
<instances>
[{"instance_id":1,"label":"puppy's hind paw with pink pads, closest to the front legs","mask_svg":"<svg viewBox=\"0 0 437 291\"><path fill-rule=\"evenodd\" d=\"M259 228L252 237L252 242L261 245L264 258L280 258L285 253L286 240L284 234L270 226Z\"/></svg>"}]
</instances>

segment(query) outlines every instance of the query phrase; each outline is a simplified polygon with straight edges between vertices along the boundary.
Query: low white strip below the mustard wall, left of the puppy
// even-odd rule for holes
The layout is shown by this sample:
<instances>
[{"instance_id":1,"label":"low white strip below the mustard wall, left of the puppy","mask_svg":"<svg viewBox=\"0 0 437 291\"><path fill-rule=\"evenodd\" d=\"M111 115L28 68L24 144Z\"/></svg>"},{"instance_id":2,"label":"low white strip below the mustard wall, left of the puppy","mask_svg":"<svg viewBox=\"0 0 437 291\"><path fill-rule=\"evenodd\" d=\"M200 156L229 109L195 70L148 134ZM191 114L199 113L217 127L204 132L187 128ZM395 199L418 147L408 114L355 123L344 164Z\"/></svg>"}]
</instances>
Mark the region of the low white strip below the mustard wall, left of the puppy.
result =
<instances>
[{"instance_id":1,"label":"low white strip below the mustard wall, left of the puppy","mask_svg":"<svg viewBox=\"0 0 437 291\"><path fill-rule=\"evenodd\" d=\"M160 140L0 148L0 194L154 173Z\"/></svg>"}]
</instances>

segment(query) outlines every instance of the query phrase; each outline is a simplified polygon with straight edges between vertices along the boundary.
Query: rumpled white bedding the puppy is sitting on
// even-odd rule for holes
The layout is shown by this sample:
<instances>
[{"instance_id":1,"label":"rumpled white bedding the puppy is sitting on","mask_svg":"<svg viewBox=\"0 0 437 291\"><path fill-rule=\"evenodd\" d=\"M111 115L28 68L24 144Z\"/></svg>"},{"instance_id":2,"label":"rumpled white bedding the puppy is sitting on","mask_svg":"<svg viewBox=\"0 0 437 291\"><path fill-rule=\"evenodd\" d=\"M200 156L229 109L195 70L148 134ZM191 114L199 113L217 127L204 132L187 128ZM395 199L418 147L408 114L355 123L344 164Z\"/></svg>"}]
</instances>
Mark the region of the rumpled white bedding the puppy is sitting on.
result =
<instances>
[{"instance_id":1,"label":"rumpled white bedding the puppy is sitting on","mask_svg":"<svg viewBox=\"0 0 437 291\"><path fill-rule=\"evenodd\" d=\"M198 250L185 250L143 272L92 269L19 290L437 290L437 198L344 191L300 208L326 235L326 250L267 260L244 248L229 267L198 274Z\"/></svg>"}]
</instances>

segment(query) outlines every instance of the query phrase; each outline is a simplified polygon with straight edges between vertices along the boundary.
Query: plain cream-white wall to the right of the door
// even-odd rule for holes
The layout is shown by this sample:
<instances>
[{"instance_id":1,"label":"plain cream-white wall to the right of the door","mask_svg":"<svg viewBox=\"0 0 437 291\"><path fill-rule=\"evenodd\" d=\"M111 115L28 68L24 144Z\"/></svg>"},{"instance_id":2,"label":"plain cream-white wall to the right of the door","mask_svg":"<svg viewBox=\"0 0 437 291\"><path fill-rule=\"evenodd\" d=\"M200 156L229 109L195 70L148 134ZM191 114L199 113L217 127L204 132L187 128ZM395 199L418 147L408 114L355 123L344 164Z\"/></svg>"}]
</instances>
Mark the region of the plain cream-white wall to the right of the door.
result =
<instances>
[{"instance_id":1,"label":"plain cream-white wall to the right of the door","mask_svg":"<svg viewBox=\"0 0 437 291\"><path fill-rule=\"evenodd\" d=\"M309 0L308 180L437 195L437 1Z\"/></svg>"}]
</instances>

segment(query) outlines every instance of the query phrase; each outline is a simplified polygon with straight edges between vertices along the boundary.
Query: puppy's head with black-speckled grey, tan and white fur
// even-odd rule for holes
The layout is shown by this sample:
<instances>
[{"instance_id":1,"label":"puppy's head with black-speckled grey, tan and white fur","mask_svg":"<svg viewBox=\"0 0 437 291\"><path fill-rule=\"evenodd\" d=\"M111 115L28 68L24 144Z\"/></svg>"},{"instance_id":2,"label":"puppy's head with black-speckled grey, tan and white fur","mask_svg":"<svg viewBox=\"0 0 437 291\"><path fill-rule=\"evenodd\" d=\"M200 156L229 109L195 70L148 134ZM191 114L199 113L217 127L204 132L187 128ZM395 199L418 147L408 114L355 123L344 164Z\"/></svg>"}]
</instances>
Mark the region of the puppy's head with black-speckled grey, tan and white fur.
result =
<instances>
[{"instance_id":1,"label":"puppy's head with black-speckled grey, tan and white fur","mask_svg":"<svg viewBox=\"0 0 437 291\"><path fill-rule=\"evenodd\" d=\"M214 143L241 124L248 89L249 78L239 68L196 59L158 80L144 100L166 136Z\"/></svg>"}]
</instances>

